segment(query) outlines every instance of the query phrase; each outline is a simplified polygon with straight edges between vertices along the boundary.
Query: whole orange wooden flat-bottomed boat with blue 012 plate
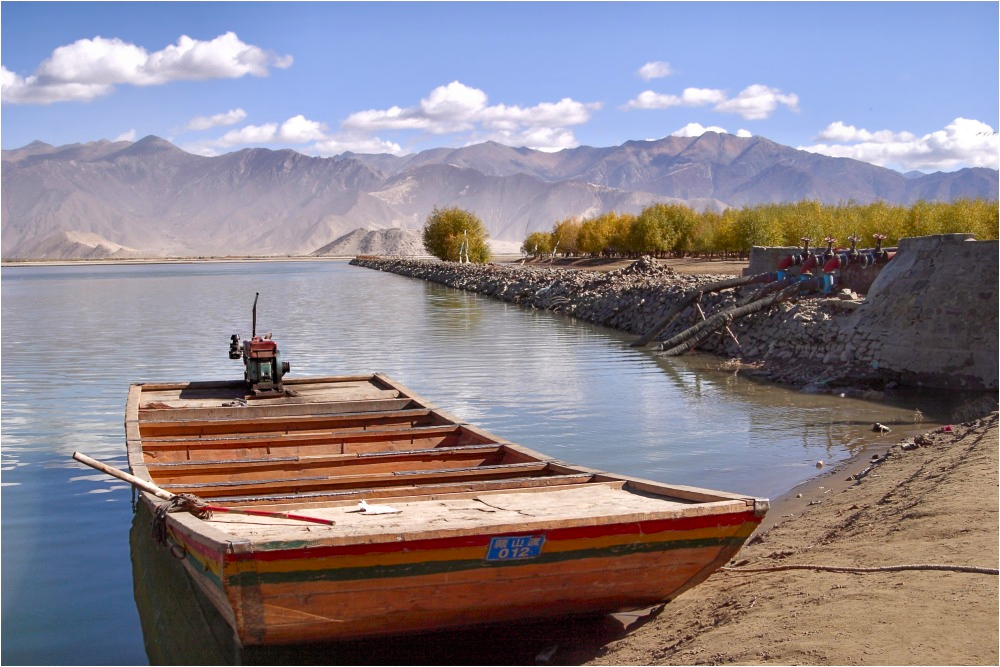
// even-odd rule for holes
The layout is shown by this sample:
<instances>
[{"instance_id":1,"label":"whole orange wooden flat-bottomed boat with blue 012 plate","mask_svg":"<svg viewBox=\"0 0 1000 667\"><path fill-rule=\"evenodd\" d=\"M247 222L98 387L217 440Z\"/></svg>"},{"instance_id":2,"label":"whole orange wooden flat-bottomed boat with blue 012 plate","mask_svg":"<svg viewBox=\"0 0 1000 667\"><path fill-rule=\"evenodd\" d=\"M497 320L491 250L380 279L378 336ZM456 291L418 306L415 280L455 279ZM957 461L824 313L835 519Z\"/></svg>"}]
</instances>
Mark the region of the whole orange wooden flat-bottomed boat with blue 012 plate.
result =
<instances>
[{"instance_id":1,"label":"whole orange wooden flat-bottomed boat with blue 012 plate","mask_svg":"<svg viewBox=\"0 0 1000 667\"><path fill-rule=\"evenodd\" d=\"M166 515L171 552L246 646L647 607L724 565L768 508L557 461L381 374L283 387L135 384L126 408L136 477L335 522Z\"/></svg>"}]
</instances>

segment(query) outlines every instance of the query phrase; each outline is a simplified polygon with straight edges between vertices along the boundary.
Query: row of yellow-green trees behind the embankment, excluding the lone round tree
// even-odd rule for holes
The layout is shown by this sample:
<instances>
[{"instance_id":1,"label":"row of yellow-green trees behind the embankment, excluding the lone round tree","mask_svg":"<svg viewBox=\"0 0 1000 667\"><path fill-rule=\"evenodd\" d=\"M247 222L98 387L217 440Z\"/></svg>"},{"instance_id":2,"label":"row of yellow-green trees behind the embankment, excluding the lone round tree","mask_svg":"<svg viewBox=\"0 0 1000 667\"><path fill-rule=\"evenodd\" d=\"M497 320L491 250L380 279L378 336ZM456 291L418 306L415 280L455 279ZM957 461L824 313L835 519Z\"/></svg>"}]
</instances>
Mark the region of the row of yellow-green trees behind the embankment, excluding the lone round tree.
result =
<instances>
[{"instance_id":1,"label":"row of yellow-green trees behind the embankment, excluding the lone round tree","mask_svg":"<svg viewBox=\"0 0 1000 667\"><path fill-rule=\"evenodd\" d=\"M802 238L812 239L813 247L826 245L827 238L846 246L848 238L856 236L862 248L874 245L875 234L885 235L885 246L930 234L971 233L987 240L997 238L998 210L996 201L985 199L919 201L912 206L885 202L829 205L807 200L729 208L721 213L660 203L638 214L610 211L583 220L556 221L551 231L529 234L521 250L535 256L746 256L751 246L799 246Z\"/></svg>"}]
</instances>

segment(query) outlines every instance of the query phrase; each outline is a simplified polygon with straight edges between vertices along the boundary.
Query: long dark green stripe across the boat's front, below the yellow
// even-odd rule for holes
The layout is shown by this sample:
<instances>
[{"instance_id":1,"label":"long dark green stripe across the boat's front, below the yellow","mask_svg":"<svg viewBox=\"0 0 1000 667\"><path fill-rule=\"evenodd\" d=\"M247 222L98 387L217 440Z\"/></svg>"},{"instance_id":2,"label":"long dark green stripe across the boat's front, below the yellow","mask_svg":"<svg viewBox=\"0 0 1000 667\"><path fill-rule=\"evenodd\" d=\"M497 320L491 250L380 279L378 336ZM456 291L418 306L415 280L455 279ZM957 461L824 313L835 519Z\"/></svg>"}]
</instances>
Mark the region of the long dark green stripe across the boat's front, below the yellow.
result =
<instances>
[{"instance_id":1,"label":"long dark green stripe across the boat's front, below the yellow","mask_svg":"<svg viewBox=\"0 0 1000 667\"><path fill-rule=\"evenodd\" d=\"M517 561L487 561L487 560L452 560L452 561L421 561L417 563L401 563L397 565L373 565L370 567L329 568L324 570L295 570L291 572L243 572L229 578L230 586L241 586L260 582L263 584L292 584L310 581L356 581L363 579L388 579L394 577L419 577L431 574L445 574L463 570L490 569L497 567L517 567L521 565L548 565L571 560L586 560L588 558L608 558L630 556L656 551L671 551L674 549L712 549L727 546L739 547L745 538L703 538L697 540L673 540L663 542L647 542L637 544L622 544L612 547L580 549L543 553L537 558ZM706 561L707 562L707 561Z\"/></svg>"}]
</instances>

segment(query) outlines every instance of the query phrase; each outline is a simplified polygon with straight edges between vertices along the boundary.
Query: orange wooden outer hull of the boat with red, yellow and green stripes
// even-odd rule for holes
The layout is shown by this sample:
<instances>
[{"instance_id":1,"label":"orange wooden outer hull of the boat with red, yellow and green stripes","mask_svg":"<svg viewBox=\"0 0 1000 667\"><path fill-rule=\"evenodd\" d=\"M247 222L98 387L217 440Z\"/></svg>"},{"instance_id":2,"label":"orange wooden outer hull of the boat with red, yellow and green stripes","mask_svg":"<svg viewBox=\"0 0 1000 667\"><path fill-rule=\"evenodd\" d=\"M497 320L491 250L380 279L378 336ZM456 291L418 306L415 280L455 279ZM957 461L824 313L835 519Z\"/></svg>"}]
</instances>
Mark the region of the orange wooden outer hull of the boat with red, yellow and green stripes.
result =
<instances>
[{"instance_id":1,"label":"orange wooden outer hull of the boat with red, yellow and green stripes","mask_svg":"<svg viewBox=\"0 0 1000 667\"><path fill-rule=\"evenodd\" d=\"M487 560L494 535L244 552L231 542L213 550L177 526L171 535L189 574L251 646L641 609L701 583L760 520L749 508L505 533L543 538L537 557L514 561Z\"/></svg>"}]
</instances>

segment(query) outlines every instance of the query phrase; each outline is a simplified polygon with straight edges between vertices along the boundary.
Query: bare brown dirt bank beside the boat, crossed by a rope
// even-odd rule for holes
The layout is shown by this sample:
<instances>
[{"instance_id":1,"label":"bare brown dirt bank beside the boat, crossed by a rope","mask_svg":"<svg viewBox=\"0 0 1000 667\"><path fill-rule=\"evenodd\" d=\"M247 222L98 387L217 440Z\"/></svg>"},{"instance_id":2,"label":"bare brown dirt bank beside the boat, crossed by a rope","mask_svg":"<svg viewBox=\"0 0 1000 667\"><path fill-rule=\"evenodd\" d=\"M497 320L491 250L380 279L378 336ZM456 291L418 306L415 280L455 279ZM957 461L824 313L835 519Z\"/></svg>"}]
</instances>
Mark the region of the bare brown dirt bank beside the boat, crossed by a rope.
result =
<instances>
[{"instance_id":1,"label":"bare brown dirt bank beside the boat, crossed by a rope","mask_svg":"<svg viewBox=\"0 0 1000 667\"><path fill-rule=\"evenodd\" d=\"M780 523L737 563L997 568L996 413L916 443L842 491L820 481L798 511L776 503ZM985 574L718 572L596 655L561 662L996 665L997 609L997 577Z\"/></svg>"}]
</instances>

